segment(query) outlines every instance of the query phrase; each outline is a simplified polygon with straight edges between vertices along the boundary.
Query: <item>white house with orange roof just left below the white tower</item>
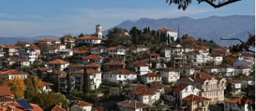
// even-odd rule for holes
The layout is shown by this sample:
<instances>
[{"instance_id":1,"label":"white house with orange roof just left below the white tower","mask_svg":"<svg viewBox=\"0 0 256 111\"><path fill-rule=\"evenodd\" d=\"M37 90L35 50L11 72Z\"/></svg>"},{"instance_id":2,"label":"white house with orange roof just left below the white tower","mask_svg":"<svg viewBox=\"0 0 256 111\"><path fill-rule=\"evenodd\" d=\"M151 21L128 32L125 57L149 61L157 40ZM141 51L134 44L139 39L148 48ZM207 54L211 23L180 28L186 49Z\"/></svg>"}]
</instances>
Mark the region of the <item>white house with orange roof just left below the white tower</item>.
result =
<instances>
[{"instance_id":1,"label":"white house with orange roof just left below the white tower","mask_svg":"<svg viewBox=\"0 0 256 111\"><path fill-rule=\"evenodd\" d=\"M77 38L78 44L101 44L102 38L97 38L96 36L83 36Z\"/></svg>"}]
</instances>

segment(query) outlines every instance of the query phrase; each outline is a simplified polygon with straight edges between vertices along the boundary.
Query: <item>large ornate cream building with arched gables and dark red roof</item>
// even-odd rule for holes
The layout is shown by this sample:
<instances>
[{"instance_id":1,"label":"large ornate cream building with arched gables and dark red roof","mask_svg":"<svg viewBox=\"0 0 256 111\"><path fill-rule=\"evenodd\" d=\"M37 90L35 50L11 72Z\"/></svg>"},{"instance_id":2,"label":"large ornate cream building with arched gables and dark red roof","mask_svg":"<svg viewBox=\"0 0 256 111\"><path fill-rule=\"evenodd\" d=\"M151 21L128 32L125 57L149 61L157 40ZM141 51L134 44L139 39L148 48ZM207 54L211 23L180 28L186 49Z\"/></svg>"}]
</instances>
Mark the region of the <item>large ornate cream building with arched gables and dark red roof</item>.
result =
<instances>
[{"instance_id":1,"label":"large ornate cream building with arched gables and dark red roof","mask_svg":"<svg viewBox=\"0 0 256 111\"><path fill-rule=\"evenodd\" d=\"M178 83L187 83L200 89L200 96L211 99L211 103L224 101L225 78L219 79L207 73L195 73L179 79Z\"/></svg>"}]
</instances>

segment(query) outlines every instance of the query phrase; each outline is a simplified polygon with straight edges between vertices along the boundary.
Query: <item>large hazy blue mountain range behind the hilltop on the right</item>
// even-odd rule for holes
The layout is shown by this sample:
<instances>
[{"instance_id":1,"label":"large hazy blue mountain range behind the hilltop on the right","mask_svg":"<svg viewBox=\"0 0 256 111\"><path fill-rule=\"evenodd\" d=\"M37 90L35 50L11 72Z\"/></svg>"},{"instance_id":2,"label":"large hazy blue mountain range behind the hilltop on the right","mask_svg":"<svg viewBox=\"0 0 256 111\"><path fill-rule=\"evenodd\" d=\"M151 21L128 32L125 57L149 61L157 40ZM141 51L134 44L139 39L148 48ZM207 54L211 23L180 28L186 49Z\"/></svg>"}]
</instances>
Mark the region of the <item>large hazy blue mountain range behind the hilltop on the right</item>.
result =
<instances>
[{"instance_id":1,"label":"large hazy blue mountain range behind the hilltop on the right","mask_svg":"<svg viewBox=\"0 0 256 111\"><path fill-rule=\"evenodd\" d=\"M221 41L220 38L241 38L246 40L248 33L255 34L255 16L252 15L231 15L226 17L211 16L201 19L191 17L149 19L140 18L139 20L127 20L116 25L116 27L130 30L133 26L139 29L150 27L158 30L160 28L170 28L177 30L179 25L180 34L195 36L206 40L214 40L221 46L237 44L236 41ZM105 30L105 34L108 30Z\"/></svg>"}]
</instances>

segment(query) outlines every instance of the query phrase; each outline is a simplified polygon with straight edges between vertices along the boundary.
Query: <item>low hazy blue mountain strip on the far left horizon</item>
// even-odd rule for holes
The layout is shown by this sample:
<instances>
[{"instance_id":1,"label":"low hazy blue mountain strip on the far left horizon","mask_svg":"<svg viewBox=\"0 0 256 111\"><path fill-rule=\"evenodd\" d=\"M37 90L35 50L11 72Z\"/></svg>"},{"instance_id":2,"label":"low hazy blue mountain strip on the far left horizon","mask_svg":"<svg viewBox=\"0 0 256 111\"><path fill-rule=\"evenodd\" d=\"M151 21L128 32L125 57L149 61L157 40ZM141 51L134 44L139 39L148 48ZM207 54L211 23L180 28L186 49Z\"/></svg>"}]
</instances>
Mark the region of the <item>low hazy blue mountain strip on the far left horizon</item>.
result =
<instances>
[{"instance_id":1,"label":"low hazy blue mountain strip on the far left horizon","mask_svg":"<svg viewBox=\"0 0 256 111\"><path fill-rule=\"evenodd\" d=\"M17 41L28 41L28 42L35 42L42 38L52 38L52 39L59 39L59 36L51 36L51 35L45 35L45 36L13 36L13 37L0 37L0 44L4 45L10 45L10 44L16 44Z\"/></svg>"}]
</instances>

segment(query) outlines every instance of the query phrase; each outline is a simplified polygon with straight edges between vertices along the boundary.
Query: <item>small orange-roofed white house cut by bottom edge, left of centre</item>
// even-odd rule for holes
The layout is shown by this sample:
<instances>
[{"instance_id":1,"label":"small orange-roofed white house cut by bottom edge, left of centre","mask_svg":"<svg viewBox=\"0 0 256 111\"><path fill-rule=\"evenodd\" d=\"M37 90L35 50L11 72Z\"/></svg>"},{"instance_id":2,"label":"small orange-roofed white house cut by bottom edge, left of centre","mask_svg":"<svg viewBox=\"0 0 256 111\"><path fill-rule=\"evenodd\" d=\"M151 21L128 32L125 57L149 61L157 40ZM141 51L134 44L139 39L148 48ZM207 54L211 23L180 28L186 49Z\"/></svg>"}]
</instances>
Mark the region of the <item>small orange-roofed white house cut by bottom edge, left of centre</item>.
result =
<instances>
[{"instance_id":1,"label":"small orange-roofed white house cut by bottom edge, left of centre","mask_svg":"<svg viewBox=\"0 0 256 111\"><path fill-rule=\"evenodd\" d=\"M91 111L93 104L89 102L75 100L74 104L72 105L71 109L73 111Z\"/></svg>"}]
</instances>

